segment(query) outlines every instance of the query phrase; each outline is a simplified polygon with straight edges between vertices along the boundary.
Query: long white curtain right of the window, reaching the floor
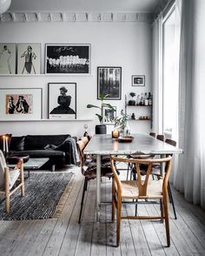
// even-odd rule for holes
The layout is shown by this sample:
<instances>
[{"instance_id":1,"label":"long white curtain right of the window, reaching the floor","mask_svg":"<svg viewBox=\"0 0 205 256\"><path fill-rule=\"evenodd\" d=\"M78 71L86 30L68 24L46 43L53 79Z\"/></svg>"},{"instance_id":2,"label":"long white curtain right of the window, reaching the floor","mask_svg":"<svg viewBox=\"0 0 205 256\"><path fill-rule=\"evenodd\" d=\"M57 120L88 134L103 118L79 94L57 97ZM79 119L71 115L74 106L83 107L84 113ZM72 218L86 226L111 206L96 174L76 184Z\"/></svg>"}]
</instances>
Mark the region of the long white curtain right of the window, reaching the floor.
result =
<instances>
[{"instance_id":1,"label":"long white curtain right of the window, reaching the floor","mask_svg":"<svg viewBox=\"0 0 205 256\"><path fill-rule=\"evenodd\" d=\"M181 0L179 156L174 185L205 208L205 10L204 0Z\"/></svg>"}]
</instances>

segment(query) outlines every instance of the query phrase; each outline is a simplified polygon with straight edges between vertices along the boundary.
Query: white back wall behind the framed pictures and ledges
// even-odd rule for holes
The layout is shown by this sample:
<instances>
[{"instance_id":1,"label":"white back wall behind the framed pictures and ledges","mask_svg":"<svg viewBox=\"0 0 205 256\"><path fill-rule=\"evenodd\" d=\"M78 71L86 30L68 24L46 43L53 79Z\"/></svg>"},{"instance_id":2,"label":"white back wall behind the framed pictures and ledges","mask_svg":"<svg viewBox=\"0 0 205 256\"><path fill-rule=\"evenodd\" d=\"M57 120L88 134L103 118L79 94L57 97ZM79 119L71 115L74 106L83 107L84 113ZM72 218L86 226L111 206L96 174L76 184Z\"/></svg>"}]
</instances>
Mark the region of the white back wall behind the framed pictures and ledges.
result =
<instances>
[{"instance_id":1,"label":"white back wall behind the framed pictures and ledges","mask_svg":"<svg viewBox=\"0 0 205 256\"><path fill-rule=\"evenodd\" d=\"M1 43L41 43L44 58L44 44L91 44L90 76L13 76L0 77L0 88L43 88L43 118L47 118L48 83L76 82L77 118L93 121L39 121L39 122L0 122L0 134L10 132L23 134L70 133L82 135L83 125L89 125L94 133L97 124L95 110L87 104L99 104L96 100L96 67L122 66L122 100L109 101L117 106L117 115L124 107L124 95L130 91L139 94L151 91L151 25L146 23L1 23ZM44 62L42 62L44 65ZM44 71L44 68L42 69ZM145 75L145 87L132 87L132 75ZM2 106L1 106L2 107ZM132 111L132 110L130 110ZM136 110L137 111L137 110ZM132 121L131 131L149 132L149 121ZM112 126L111 126L112 127ZM109 125L108 131L111 129Z\"/></svg>"}]
</instances>

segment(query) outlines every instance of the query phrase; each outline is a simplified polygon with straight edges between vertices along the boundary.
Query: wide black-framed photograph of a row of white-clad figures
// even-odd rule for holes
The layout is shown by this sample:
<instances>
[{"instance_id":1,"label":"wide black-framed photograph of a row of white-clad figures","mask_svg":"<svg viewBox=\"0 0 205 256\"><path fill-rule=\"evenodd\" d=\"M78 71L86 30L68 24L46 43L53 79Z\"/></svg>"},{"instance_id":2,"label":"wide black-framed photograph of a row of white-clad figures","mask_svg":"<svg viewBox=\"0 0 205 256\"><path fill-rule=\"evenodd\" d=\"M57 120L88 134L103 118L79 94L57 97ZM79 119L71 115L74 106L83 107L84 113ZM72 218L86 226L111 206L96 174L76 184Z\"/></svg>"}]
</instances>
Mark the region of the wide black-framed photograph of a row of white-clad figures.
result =
<instances>
[{"instance_id":1,"label":"wide black-framed photograph of a row of white-clad figures","mask_svg":"<svg viewBox=\"0 0 205 256\"><path fill-rule=\"evenodd\" d=\"M90 44L46 44L45 73L89 74Z\"/></svg>"}]
</instances>

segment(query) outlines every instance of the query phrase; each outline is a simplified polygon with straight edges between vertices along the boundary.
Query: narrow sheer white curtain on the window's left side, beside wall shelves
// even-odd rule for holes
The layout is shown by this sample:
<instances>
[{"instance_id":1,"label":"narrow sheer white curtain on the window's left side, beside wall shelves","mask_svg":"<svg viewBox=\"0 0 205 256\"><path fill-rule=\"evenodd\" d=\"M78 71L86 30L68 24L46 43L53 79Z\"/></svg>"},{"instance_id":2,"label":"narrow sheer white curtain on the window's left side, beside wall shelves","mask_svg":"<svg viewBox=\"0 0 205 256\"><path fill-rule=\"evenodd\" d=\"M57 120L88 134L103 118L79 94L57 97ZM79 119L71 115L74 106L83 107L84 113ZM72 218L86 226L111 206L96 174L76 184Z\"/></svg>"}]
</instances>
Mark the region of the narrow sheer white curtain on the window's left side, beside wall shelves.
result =
<instances>
[{"instance_id":1,"label":"narrow sheer white curtain on the window's left side, beside wall shelves","mask_svg":"<svg viewBox=\"0 0 205 256\"><path fill-rule=\"evenodd\" d=\"M153 24L153 131L162 133L162 13Z\"/></svg>"}]
</instances>

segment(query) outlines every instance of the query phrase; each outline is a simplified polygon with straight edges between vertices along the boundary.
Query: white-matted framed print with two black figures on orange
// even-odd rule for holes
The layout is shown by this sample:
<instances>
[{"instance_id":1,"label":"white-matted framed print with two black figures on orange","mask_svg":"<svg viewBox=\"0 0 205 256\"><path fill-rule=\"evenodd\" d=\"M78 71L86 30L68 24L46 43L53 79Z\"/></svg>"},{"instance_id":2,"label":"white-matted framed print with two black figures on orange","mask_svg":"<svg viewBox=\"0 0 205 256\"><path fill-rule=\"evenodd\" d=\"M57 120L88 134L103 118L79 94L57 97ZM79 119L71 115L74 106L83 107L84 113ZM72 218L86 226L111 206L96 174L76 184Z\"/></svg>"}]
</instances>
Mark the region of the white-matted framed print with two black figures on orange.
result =
<instances>
[{"instance_id":1,"label":"white-matted framed print with two black figures on orange","mask_svg":"<svg viewBox=\"0 0 205 256\"><path fill-rule=\"evenodd\" d=\"M38 120L42 118L42 88L0 89L2 120Z\"/></svg>"}]
</instances>

